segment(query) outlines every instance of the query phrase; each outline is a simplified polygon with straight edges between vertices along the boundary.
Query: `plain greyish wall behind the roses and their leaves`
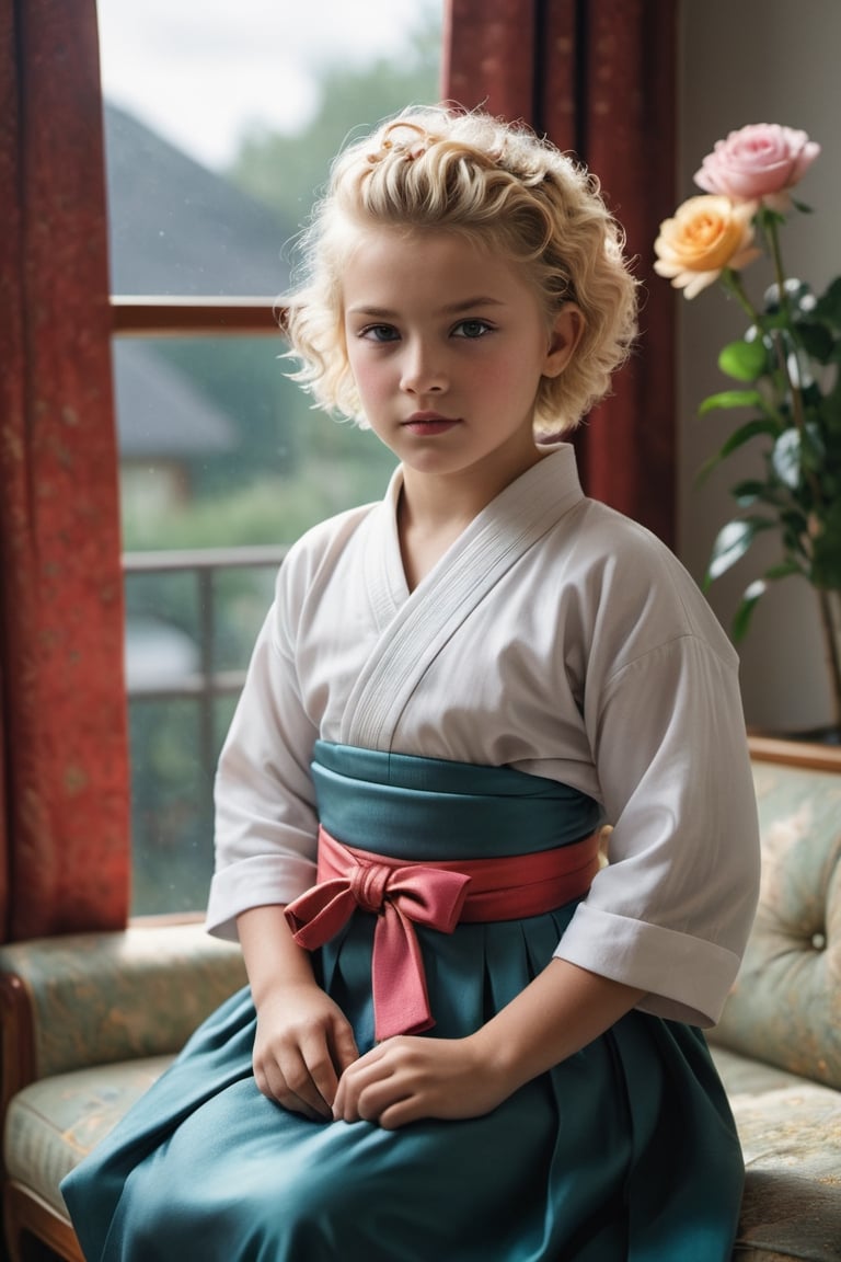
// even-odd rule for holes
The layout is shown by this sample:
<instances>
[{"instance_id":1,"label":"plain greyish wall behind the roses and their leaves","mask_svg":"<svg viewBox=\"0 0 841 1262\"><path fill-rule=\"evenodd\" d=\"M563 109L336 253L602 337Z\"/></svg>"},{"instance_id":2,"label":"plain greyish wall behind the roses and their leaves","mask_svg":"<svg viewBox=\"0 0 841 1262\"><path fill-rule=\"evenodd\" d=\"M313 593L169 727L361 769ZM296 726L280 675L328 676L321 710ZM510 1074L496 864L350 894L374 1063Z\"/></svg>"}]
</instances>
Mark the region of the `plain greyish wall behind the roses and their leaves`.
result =
<instances>
[{"instance_id":1,"label":"plain greyish wall behind the roses and their leaves","mask_svg":"<svg viewBox=\"0 0 841 1262\"><path fill-rule=\"evenodd\" d=\"M749 122L802 127L822 145L799 186L815 211L793 215L783 230L789 275L816 290L841 274L841 0L681 0L681 90L677 202L701 192L692 175L714 143ZM667 212L671 213L671 212ZM770 278L755 265L744 273L751 294ZM666 284L666 281L663 281ZM676 304L678 319L678 551L692 574L704 574L719 528L735 514L728 488L759 461L744 452L697 487L704 459L724 442L736 413L697 416L697 405L728 379L716 367L721 346L739 337L745 318L719 286ZM725 626L760 563L777 555L773 538L712 584L710 602ZM754 551L757 557L754 559ZM740 645L749 724L808 729L831 718L823 641L811 588L798 578L775 584L760 601Z\"/></svg>"}]
</instances>

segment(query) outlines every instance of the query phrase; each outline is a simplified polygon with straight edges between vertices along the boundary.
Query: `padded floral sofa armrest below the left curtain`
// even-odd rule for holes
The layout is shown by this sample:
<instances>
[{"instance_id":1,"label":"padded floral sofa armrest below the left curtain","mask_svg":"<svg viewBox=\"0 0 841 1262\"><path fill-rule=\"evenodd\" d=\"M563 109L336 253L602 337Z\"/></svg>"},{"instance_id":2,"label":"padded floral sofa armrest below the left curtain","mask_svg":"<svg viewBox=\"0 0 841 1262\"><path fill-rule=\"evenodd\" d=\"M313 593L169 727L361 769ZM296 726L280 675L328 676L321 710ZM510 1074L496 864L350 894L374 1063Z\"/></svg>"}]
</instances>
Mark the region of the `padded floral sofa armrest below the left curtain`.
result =
<instances>
[{"instance_id":1,"label":"padded floral sofa armrest below the left curtain","mask_svg":"<svg viewBox=\"0 0 841 1262\"><path fill-rule=\"evenodd\" d=\"M140 923L3 946L3 1095L87 1065L177 1053L245 984L238 945L200 924ZM10 1083L13 1073L21 1080Z\"/></svg>"}]
</instances>

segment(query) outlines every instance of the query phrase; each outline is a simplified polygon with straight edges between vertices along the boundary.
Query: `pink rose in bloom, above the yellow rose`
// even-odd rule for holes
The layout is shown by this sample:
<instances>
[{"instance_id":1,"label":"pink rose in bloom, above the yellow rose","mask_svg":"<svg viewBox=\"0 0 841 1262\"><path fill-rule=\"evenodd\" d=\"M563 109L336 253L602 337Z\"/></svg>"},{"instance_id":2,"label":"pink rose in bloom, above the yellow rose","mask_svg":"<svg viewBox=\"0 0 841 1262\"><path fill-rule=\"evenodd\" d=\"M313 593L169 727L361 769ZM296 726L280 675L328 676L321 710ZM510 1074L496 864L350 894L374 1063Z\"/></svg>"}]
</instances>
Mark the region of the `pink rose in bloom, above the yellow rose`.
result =
<instances>
[{"instance_id":1,"label":"pink rose in bloom, above the yellow rose","mask_svg":"<svg viewBox=\"0 0 841 1262\"><path fill-rule=\"evenodd\" d=\"M789 206L788 189L799 183L821 151L804 131L758 122L716 140L701 163L695 183L707 193L736 201L764 201L775 209Z\"/></svg>"}]
</instances>

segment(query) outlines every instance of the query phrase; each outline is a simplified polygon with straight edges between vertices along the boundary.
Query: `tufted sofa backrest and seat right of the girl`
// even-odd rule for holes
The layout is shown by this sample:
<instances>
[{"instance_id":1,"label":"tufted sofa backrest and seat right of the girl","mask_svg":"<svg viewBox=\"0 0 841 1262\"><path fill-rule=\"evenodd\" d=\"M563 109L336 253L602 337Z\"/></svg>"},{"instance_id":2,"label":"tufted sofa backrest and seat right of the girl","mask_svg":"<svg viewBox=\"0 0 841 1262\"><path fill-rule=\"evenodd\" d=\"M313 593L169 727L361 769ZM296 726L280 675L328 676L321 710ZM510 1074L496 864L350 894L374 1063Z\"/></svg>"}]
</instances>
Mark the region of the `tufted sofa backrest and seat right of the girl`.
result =
<instances>
[{"instance_id":1,"label":"tufted sofa backrest and seat right of the girl","mask_svg":"<svg viewBox=\"0 0 841 1262\"><path fill-rule=\"evenodd\" d=\"M751 760L759 907L710 1034L746 1167L734 1258L841 1262L841 748Z\"/></svg>"}]
</instances>

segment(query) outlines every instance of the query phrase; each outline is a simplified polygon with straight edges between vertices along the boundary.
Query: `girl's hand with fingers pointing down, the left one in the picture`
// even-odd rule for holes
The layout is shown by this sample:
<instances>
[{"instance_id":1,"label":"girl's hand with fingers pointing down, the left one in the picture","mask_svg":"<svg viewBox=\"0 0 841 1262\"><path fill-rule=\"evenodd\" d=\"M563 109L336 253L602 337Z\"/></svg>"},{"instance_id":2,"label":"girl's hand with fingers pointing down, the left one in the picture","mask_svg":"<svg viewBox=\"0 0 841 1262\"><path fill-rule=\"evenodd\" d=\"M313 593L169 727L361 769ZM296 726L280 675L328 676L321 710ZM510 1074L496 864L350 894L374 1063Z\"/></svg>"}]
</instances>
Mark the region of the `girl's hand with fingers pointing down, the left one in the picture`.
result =
<instances>
[{"instance_id":1,"label":"girl's hand with fingers pointing down, the left one in the picture","mask_svg":"<svg viewBox=\"0 0 841 1262\"><path fill-rule=\"evenodd\" d=\"M294 1113L330 1119L339 1076L358 1055L347 1017L315 982L275 989L257 1008L257 1087Z\"/></svg>"}]
</instances>

